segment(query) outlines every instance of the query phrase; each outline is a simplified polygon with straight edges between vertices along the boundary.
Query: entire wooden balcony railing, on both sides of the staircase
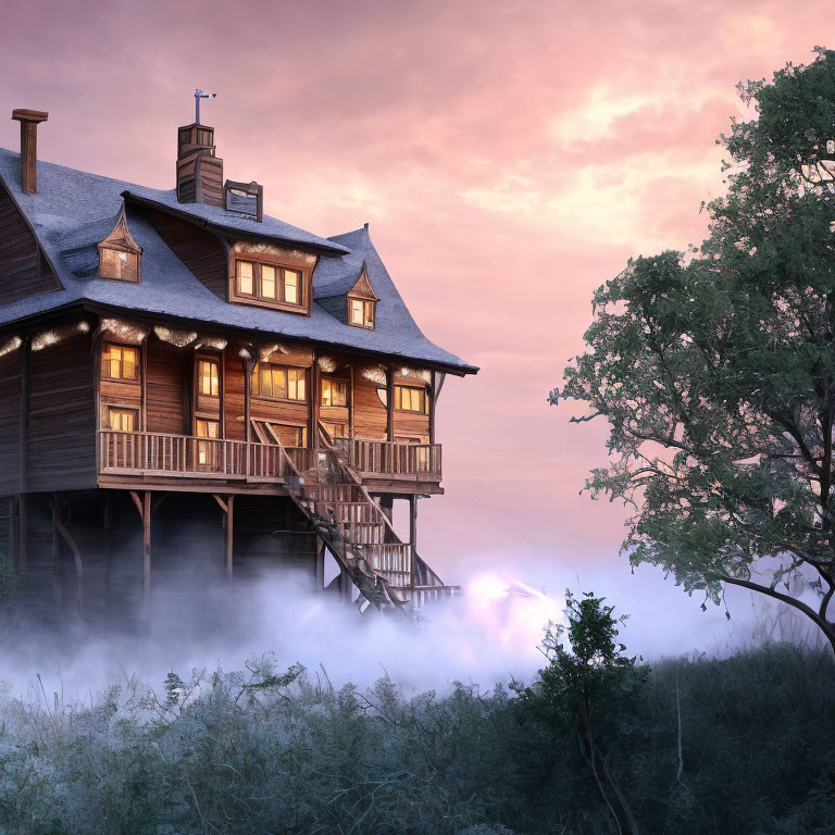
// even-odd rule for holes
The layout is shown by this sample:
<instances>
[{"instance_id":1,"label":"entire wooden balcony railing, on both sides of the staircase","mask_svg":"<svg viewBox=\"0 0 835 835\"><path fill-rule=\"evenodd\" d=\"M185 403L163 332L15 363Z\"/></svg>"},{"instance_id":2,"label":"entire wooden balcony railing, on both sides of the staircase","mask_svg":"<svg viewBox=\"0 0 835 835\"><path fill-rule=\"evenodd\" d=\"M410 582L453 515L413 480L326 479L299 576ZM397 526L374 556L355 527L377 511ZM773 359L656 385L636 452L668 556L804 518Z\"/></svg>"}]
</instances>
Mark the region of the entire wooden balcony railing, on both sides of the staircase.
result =
<instances>
[{"instance_id":1,"label":"entire wooden balcony railing, on both sides of the staircase","mask_svg":"<svg viewBox=\"0 0 835 835\"><path fill-rule=\"evenodd\" d=\"M334 446L364 477L440 481L440 445L338 438ZM285 447L299 472L319 463L316 450ZM278 481L292 476L278 446L157 432L99 432L99 472L188 478Z\"/></svg>"}]
</instances>

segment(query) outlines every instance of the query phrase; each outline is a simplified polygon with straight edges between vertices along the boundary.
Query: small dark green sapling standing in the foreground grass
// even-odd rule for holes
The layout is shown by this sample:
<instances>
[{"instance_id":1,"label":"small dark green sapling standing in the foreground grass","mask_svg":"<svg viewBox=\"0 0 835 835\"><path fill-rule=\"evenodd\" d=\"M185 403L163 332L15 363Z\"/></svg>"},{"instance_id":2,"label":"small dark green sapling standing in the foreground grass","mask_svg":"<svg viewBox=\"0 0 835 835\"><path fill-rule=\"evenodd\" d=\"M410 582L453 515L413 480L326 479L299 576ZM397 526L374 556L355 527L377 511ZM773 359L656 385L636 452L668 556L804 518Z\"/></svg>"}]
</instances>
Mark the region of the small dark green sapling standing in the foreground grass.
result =
<instances>
[{"instance_id":1,"label":"small dark green sapling standing in the foreground grass","mask_svg":"<svg viewBox=\"0 0 835 835\"><path fill-rule=\"evenodd\" d=\"M614 607L586 593L565 593L568 626L550 624L543 643L548 665L526 689L515 687L524 708L532 709L563 736L574 736L577 750L594 775L597 788L622 835L637 835L632 809L610 768L622 732L622 719L632 713L635 695L648 669L624 655L618 640ZM568 638L568 645L564 643Z\"/></svg>"}]
</instances>

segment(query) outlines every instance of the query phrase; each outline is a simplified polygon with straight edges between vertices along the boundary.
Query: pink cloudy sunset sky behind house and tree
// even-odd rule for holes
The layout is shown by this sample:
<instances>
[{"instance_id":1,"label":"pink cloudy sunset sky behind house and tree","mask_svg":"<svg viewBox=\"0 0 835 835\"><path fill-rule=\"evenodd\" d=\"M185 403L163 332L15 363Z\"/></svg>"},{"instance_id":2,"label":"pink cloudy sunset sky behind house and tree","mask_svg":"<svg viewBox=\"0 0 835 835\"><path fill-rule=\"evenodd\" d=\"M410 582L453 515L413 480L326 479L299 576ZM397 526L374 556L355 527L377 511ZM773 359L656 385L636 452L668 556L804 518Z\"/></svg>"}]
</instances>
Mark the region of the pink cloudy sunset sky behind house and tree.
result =
<instances>
[{"instance_id":1,"label":"pink cloudy sunset sky behind house and tree","mask_svg":"<svg viewBox=\"0 0 835 835\"><path fill-rule=\"evenodd\" d=\"M631 254L701 239L735 84L811 60L831 11L7 0L0 101L50 112L41 158L169 188L191 91L216 90L203 121L227 175L322 235L369 221L427 336L482 367L444 389L447 495L421 503L421 552L449 582L498 566L549 590L603 571L625 587L641 581L616 556L623 512L577 495L605 427L570 425L547 392L594 288ZM0 120L0 146L17 142Z\"/></svg>"}]
</instances>

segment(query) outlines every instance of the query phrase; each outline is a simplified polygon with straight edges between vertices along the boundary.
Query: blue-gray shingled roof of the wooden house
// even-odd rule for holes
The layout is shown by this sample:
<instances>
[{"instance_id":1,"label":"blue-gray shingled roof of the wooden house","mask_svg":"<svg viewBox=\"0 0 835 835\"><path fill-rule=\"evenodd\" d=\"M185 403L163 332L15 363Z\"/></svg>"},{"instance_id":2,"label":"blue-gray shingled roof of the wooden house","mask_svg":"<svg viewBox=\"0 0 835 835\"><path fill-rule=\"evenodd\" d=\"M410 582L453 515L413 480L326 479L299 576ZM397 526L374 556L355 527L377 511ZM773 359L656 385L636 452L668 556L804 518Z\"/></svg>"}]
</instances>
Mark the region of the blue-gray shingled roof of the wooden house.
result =
<instances>
[{"instance_id":1,"label":"blue-gray shingled roof of the wooden house","mask_svg":"<svg viewBox=\"0 0 835 835\"><path fill-rule=\"evenodd\" d=\"M217 207L177 203L173 191L145 188L40 161L38 191L26 195L20 187L20 155L3 149L0 149L0 179L35 229L63 285L61 290L0 306L0 325L88 301L246 328L269 336L312 339L334 347L394 354L464 373L477 371L423 335L374 249L367 228L320 238L266 215L259 224L247 217L229 216L232 213ZM338 288L348 282L347 289L350 289L365 261L369 279L379 297L375 329L344 324L315 301L310 317L225 302L186 269L144 216L142 210L129 203L128 227L144 250L141 284L98 278L96 245L112 230L124 204L124 192L233 232L316 247L322 256L313 274L314 299L324 298L325 292L333 296L347 291Z\"/></svg>"}]
</instances>

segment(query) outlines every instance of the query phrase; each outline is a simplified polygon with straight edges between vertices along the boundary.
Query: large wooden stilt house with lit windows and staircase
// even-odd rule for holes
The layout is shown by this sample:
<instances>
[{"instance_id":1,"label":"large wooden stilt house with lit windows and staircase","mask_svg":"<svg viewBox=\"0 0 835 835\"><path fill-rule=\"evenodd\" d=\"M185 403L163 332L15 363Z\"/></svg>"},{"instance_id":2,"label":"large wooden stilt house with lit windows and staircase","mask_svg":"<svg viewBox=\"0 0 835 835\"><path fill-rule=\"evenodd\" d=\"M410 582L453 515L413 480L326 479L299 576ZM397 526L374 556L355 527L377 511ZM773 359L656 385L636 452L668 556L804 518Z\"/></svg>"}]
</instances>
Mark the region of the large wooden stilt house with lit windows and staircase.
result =
<instances>
[{"instance_id":1,"label":"large wooden stilt house with lit windows and staircase","mask_svg":"<svg viewBox=\"0 0 835 835\"><path fill-rule=\"evenodd\" d=\"M234 583L292 565L361 608L448 596L418 554L438 395L477 369L420 331L367 224L319 237L178 128L176 187L0 150L0 550L18 608L147 622L189 544ZM41 128L43 129L43 128ZM410 536L391 525L409 502Z\"/></svg>"}]
</instances>

